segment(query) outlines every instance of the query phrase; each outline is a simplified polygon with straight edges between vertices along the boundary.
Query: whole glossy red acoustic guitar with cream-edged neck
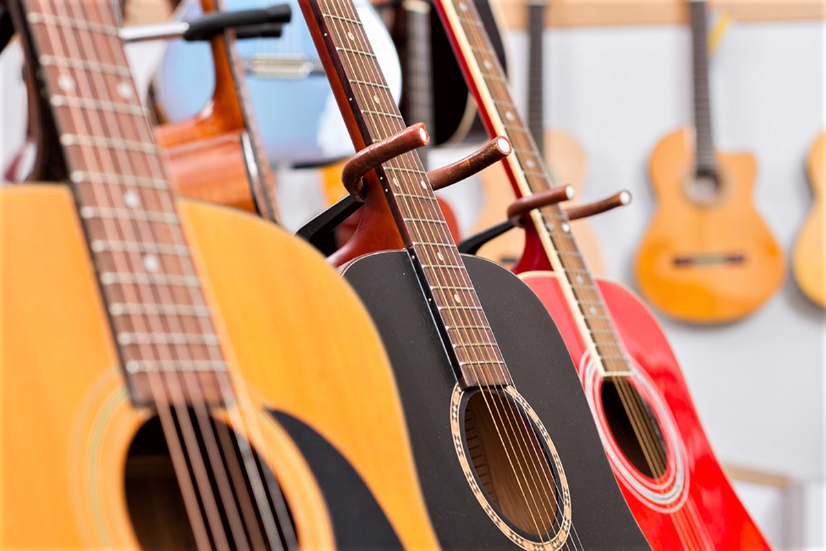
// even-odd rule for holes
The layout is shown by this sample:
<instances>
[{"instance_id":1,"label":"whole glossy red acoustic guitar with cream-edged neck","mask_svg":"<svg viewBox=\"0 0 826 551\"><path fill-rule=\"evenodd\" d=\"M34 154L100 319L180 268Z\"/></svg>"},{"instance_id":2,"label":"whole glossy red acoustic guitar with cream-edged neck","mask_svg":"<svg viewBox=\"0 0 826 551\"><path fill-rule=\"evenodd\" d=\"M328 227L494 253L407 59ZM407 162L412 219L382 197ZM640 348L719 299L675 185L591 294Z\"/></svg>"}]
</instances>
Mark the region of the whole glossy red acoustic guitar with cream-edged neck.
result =
<instances>
[{"instance_id":1,"label":"whole glossy red acoustic guitar with cream-edged neck","mask_svg":"<svg viewBox=\"0 0 826 551\"><path fill-rule=\"evenodd\" d=\"M669 551L767 549L714 459L657 322L624 287L591 278L565 210L536 208L565 195L553 188L474 13L464 0L437 5L490 134L505 134L514 147L504 162L521 199L509 210L525 213L527 234L517 270L548 308L577 363L605 451L643 533L655 549ZM578 216L598 206L570 212Z\"/></svg>"}]
</instances>

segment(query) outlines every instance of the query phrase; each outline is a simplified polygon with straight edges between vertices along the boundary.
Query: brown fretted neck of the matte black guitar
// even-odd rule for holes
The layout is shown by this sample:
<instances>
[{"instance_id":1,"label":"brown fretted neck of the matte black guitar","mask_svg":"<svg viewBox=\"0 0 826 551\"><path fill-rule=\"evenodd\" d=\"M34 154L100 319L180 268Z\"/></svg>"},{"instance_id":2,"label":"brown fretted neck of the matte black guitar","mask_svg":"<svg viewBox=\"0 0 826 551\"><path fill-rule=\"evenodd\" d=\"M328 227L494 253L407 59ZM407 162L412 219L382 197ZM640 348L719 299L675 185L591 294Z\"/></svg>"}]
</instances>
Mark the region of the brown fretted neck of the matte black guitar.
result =
<instances>
[{"instance_id":1,"label":"brown fretted neck of the matte black guitar","mask_svg":"<svg viewBox=\"0 0 826 551\"><path fill-rule=\"evenodd\" d=\"M301 0L307 26L357 149L405 129L351 0ZM420 272L465 387L510 384L510 374L418 154L383 163L368 182L384 193ZM376 200L379 200L376 197Z\"/></svg>"}]
</instances>

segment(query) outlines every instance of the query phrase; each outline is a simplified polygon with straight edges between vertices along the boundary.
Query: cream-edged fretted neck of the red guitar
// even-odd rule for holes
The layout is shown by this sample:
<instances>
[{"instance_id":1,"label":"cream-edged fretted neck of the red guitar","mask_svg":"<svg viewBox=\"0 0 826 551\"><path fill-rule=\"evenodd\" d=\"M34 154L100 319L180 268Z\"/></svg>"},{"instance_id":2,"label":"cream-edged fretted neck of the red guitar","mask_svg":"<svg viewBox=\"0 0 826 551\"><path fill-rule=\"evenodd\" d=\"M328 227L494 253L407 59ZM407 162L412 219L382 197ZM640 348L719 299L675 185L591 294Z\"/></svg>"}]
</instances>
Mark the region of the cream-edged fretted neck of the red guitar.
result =
<instances>
[{"instance_id":1,"label":"cream-edged fretted neck of the red guitar","mask_svg":"<svg viewBox=\"0 0 826 551\"><path fill-rule=\"evenodd\" d=\"M436 5L451 35L465 78L472 82L488 134L506 135L513 144L514 153L504 162L516 194L526 196L551 189L553 181L542 154L516 110L505 74L482 30L476 8L468 0L437 0ZM564 211L558 205L533 210L529 224L538 233L553 270L561 276L563 290L577 314L577 325L591 357L606 374L628 374L624 348Z\"/></svg>"}]
</instances>

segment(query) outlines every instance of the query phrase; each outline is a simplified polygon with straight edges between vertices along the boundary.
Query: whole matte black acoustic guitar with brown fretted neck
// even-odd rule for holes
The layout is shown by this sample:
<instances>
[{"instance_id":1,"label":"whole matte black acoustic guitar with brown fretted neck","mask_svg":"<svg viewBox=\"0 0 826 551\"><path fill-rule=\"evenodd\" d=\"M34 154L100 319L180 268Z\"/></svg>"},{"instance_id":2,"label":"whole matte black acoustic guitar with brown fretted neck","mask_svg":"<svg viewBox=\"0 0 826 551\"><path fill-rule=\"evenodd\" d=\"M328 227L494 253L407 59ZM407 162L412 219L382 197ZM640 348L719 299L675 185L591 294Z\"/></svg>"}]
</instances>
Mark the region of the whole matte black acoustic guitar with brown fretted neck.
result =
<instances>
[{"instance_id":1,"label":"whole matte black acoustic guitar with brown fretted neck","mask_svg":"<svg viewBox=\"0 0 826 551\"><path fill-rule=\"evenodd\" d=\"M356 148L405 130L353 3L301 9ZM420 124L404 135L427 142ZM387 346L439 542L650 549L542 304L501 266L460 257L415 152L364 182L362 224L331 260L372 252L342 270Z\"/></svg>"}]
</instances>

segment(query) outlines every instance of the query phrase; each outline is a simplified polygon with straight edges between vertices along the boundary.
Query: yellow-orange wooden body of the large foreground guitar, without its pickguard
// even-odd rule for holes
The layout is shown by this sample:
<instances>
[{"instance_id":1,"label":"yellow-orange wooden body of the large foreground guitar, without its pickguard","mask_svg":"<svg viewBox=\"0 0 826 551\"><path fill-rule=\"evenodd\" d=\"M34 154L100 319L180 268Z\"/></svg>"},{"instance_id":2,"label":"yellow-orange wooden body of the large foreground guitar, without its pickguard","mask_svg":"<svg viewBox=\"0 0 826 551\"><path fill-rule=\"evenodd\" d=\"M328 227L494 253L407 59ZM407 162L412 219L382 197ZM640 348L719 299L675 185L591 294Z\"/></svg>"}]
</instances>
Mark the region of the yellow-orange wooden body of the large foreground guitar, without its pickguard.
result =
<instances>
[{"instance_id":1,"label":"yellow-orange wooden body of the large foreground guitar, without its pickguard","mask_svg":"<svg viewBox=\"0 0 826 551\"><path fill-rule=\"evenodd\" d=\"M241 436L268 458L302 549L434 548L387 357L352 290L271 224L178 207L244 379L239 410L259 423ZM152 410L126 392L74 208L62 186L0 190L0 548L137 549L139 528L163 524L153 549L182 549L171 494L125 490L159 483L129 452Z\"/></svg>"}]
</instances>

